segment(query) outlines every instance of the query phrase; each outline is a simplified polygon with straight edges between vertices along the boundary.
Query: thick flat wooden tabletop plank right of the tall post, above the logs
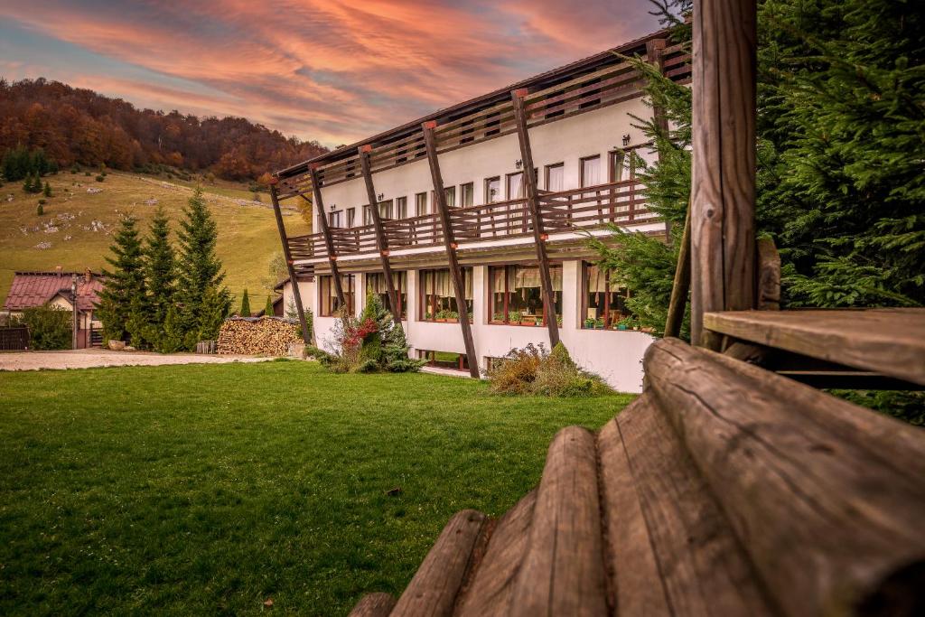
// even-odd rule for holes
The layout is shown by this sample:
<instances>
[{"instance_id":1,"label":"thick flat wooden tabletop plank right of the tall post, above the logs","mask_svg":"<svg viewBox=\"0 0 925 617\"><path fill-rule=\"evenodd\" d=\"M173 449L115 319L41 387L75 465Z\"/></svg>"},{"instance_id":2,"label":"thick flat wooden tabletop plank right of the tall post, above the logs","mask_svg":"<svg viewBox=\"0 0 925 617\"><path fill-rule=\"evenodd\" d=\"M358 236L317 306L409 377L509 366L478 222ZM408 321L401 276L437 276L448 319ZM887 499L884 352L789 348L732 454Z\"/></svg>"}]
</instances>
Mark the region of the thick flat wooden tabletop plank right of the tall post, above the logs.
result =
<instances>
[{"instance_id":1,"label":"thick flat wooden tabletop plank right of the tall post, above the logs","mask_svg":"<svg viewBox=\"0 0 925 617\"><path fill-rule=\"evenodd\" d=\"M704 315L704 326L925 385L925 309L735 311Z\"/></svg>"}]
</instances>

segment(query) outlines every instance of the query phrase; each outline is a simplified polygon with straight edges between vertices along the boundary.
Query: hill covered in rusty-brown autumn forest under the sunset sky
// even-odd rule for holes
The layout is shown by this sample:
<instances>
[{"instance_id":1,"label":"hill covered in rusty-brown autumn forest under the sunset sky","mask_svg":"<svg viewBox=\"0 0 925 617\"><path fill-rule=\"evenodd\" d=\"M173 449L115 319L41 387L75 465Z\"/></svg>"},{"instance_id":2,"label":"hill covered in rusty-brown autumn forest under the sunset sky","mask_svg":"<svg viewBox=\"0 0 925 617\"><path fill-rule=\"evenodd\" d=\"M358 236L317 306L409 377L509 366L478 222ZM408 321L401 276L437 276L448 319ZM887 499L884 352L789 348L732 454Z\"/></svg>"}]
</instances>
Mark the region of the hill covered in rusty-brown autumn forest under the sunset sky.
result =
<instances>
[{"instance_id":1,"label":"hill covered in rusty-brown autumn forest under the sunset sky","mask_svg":"<svg viewBox=\"0 0 925 617\"><path fill-rule=\"evenodd\" d=\"M60 81L0 79L0 154L42 149L61 168L78 163L144 171L168 165L221 179L257 179L327 152L243 117L138 109Z\"/></svg>"}]
</instances>

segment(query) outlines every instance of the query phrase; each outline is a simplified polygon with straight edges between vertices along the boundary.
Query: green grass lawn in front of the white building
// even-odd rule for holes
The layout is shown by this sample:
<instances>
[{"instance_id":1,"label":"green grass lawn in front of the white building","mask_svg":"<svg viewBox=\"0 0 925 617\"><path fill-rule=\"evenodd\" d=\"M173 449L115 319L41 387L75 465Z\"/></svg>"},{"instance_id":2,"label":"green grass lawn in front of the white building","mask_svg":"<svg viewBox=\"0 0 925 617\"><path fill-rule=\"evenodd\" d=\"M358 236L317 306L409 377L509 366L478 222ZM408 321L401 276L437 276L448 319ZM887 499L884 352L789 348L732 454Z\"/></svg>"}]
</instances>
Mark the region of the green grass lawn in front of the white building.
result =
<instances>
[{"instance_id":1,"label":"green grass lawn in front of the white building","mask_svg":"<svg viewBox=\"0 0 925 617\"><path fill-rule=\"evenodd\" d=\"M301 362L0 373L0 614L344 614L632 398Z\"/></svg>"}]
</instances>

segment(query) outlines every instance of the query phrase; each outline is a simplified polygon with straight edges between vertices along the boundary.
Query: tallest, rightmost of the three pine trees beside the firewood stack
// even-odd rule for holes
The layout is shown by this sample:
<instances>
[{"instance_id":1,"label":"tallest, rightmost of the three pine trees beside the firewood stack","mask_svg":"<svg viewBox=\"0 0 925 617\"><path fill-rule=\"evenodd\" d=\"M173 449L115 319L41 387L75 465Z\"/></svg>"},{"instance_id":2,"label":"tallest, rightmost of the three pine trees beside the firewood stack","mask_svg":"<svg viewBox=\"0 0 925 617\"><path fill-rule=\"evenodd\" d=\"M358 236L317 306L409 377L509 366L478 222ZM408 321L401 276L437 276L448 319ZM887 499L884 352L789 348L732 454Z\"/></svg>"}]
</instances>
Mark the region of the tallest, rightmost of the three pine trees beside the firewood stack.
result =
<instances>
[{"instance_id":1,"label":"tallest, rightmost of the three pine trees beside the firewood stack","mask_svg":"<svg viewBox=\"0 0 925 617\"><path fill-rule=\"evenodd\" d=\"M185 341L191 349L196 341L190 345L190 335L213 330L217 334L217 326L213 327L216 315L222 319L228 315L231 295L222 285L225 273L216 257L216 222L209 214L202 189L193 192L183 214L186 218L180 221L178 233L179 300L183 306L181 318L190 333Z\"/></svg>"}]
</instances>

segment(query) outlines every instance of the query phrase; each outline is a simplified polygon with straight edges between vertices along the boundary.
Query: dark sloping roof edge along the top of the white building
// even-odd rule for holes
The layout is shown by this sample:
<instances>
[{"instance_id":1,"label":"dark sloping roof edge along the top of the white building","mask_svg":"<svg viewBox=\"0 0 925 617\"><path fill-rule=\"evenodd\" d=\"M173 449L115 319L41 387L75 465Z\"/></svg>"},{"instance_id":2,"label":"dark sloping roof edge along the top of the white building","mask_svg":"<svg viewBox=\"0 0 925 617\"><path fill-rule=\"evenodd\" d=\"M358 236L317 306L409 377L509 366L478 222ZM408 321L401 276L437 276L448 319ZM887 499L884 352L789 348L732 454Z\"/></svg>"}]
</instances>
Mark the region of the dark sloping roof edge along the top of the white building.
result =
<instances>
[{"instance_id":1,"label":"dark sloping roof edge along the top of the white building","mask_svg":"<svg viewBox=\"0 0 925 617\"><path fill-rule=\"evenodd\" d=\"M402 124L399 127L395 127L394 129L389 129L384 132L378 133L377 135L368 137L361 142L351 143L350 145L341 146L338 149L332 150L325 154L319 154L317 156L314 156L314 158L310 158L307 161L303 161L302 163L298 163L296 165L286 167L285 169L281 169L276 172L276 175L279 178L289 178L290 176L295 176L295 175L304 173L308 169L308 166L312 163L318 163L321 161L328 161L328 160L336 160L344 155L356 154L356 149L366 143L389 142L389 141L394 141L395 139L400 139L406 134L409 134L416 130L420 130L421 124L423 122L426 122L427 120L436 120L441 117L460 115L461 113L466 112L466 111L472 111L475 109L484 108L487 105L494 105L495 103L498 103L500 100L510 99L511 91L517 90L518 88L530 88L531 86L547 87L557 82L571 79L574 75L578 73L583 73L586 71L594 70L596 68L606 66L607 64L611 62L618 61L617 57L614 56L614 54L629 55L637 51L645 52L645 43L649 39L665 37L665 36L668 36L669 33L670 33L670 30L668 29L649 32L645 36L639 37L638 39L635 39L628 43L617 45L616 47L611 47L611 49L605 50L603 52L599 52L598 54L595 54L594 56L587 56L580 60L575 60L574 62L571 62L562 67L553 68L551 70L546 71L545 73L539 73L538 75L534 75L533 77L527 78L525 80L517 81L516 83L512 83L508 86L504 86L503 88L499 88L498 90L495 90L494 92L482 94L481 96L476 96L473 99L469 99L468 101L463 101L462 103L459 103L457 105L452 105L444 109L438 109L437 111L435 111L434 113L428 116L420 117L416 120L412 120L411 122Z\"/></svg>"}]
</instances>

